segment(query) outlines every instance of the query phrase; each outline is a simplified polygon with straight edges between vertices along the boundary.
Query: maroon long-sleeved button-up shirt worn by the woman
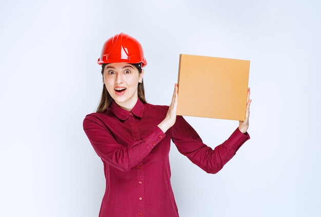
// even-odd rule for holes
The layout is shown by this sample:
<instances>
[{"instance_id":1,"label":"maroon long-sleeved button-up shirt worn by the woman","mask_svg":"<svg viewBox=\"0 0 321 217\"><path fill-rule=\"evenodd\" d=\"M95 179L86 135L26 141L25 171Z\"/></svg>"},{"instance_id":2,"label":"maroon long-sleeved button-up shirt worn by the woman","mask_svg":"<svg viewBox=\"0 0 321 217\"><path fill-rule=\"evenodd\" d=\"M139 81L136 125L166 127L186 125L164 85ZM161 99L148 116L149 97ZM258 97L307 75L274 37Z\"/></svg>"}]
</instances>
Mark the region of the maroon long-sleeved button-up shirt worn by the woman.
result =
<instances>
[{"instance_id":1,"label":"maroon long-sleeved button-up shirt worn by the woman","mask_svg":"<svg viewBox=\"0 0 321 217\"><path fill-rule=\"evenodd\" d=\"M112 103L108 112L92 113L84 130L103 160L106 191L100 217L177 217L170 183L170 141L207 173L217 173L249 135L236 129L214 150L206 146L182 116L165 134L157 125L168 106L137 101L131 111Z\"/></svg>"}]
</instances>

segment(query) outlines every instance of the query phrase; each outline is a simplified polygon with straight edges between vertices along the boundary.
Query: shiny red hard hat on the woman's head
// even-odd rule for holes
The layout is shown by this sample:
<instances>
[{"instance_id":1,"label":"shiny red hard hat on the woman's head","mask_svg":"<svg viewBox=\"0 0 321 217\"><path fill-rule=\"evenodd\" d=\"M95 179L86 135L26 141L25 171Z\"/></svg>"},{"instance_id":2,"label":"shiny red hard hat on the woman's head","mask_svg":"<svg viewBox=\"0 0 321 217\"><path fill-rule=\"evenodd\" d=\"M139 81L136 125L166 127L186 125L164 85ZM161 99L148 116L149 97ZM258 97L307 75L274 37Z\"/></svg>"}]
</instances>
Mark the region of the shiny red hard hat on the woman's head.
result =
<instances>
[{"instance_id":1,"label":"shiny red hard hat on the woman's head","mask_svg":"<svg viewBox=\"0 0 321 217\"><path fill-rule=\"evenodd\" d=\"M147 65L142 45L124 33L117 34L105 42L97 62L99 65L118 62L142 63L142 67Z\"/></svg>"}]
</instances>

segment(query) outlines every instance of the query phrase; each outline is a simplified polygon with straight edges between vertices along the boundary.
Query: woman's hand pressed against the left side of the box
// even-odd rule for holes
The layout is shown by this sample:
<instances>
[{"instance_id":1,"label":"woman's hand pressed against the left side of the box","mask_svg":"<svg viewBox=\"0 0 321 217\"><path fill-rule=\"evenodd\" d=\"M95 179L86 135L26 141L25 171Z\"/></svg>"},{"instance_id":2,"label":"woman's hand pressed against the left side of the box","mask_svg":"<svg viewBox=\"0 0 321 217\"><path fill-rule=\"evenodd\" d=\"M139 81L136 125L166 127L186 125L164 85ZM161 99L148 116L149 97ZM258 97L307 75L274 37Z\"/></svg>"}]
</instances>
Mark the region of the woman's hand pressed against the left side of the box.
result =
<instances>
[{"instance_id":1,"label":"woman's hand pressed against the left side of the box","mask_svg":"<svg viewBox=\"0 0 321 217\"><path fill-rule=\"evenodd\" d=\"M168 108L165 119L157 125L164 133L171 128L176 122L178 103L178 85L175 84L171 105Z\"/></svg>"}]
</instances>

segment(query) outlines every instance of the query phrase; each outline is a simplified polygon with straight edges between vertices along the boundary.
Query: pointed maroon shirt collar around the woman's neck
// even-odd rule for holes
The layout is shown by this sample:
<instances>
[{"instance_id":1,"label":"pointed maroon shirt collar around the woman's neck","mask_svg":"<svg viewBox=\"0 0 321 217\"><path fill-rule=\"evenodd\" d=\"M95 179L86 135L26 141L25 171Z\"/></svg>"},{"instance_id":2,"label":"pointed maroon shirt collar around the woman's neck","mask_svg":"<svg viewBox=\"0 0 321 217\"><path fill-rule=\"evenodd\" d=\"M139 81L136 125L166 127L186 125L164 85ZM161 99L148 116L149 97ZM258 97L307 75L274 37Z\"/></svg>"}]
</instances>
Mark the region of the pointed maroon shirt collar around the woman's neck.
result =
<instances>
[{"instance_id":1,"label":"pointed maroon shirt collar around the woman's neck","mask_svg":"<svg viewBox=\"0 0 321 217\"><path fill-rule=\"evenodd\" d=\"M118 106L115 101L112 101L110 105L110 110L121 120L126 120L130 112L132 112L137 117L142 117L144 113L145 105L141 100L137 100L134 108L131 111L126 111L125 109Z\"/></svg>"}]
</instances>

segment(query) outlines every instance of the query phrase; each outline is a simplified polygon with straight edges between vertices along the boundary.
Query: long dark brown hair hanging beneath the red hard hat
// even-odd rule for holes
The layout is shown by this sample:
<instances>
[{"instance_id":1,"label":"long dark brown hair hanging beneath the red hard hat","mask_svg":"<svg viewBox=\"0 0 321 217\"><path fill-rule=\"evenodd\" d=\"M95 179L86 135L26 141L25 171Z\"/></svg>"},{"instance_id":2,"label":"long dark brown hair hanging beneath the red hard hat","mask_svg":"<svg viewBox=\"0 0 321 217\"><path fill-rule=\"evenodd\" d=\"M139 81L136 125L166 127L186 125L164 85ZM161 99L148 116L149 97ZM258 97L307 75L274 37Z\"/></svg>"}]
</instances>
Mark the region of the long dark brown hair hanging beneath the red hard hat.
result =
<instances>
[{"instance_id":1,"label":"long dark brown hair hanging beneath the red hard hat","mask_svg":"<svg viewBox=\"0 0 321 217\"><path fill-rule=\"evenodd\" d=\"M104 76L105 65L107 65L107 64L102 64L102 75L103 76ZM141 68L142 63L136 63L136 64L132 64L132 65L138 69L139 74L142 73L142 68ZM143 80L142 80L142 83L138 83L137 92L138 92L139 100L141 100L145 104L146 100L145 100L145 90L144 90ZM105 87L105 84L104 84L101 102L99 102L96 112L104 112L104 111L107 112L112 101L113 101L113 99L111 98L111 96L110 96L109 92L107 91L107 88Z\"/></svg>"}]
</instances>

